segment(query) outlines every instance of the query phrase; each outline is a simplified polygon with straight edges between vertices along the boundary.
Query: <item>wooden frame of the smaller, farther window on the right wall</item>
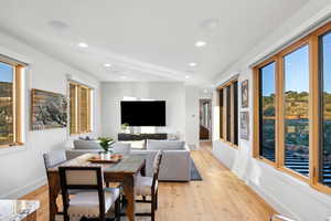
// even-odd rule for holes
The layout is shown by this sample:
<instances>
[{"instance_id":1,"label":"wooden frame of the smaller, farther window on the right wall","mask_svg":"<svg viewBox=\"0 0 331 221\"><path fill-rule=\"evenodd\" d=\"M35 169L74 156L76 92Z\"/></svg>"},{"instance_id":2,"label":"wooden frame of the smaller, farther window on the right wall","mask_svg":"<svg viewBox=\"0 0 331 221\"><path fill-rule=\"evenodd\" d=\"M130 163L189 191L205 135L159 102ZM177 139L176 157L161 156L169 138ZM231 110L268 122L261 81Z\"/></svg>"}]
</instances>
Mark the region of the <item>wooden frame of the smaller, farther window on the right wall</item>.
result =
<instances>
[{"instance_id":1,"label":"wooden frame of the smaller, farther window on the right wall","mask_svg":"<svg viewBox=\"0 0 331 221\"><path fill-rule=\"evenodd\" d=\"M234 131L235 131L235 124L234 124L234 84L238 83L238 78L231 78L229 81L227 81L225 84L221 85L217 87L217 92L220 95L220 108L221 107L221 90L223 90L223 110L221 112L220 109L220 140L229 145L231 147L234 148L238 148L238 145L234 144ZM229 119L227 118L227 87L229 86L231 90L231 114L229 114ZM238 92L237 92L238 93ZM222 116L221 116L222 113ZM222 120L221 120L222 119ZM231 125L231 135L229 135L229 140L227 140L227 124L229 122ZM237 125L238 126L238 125ZM222 127L222 129L221 129ZM238 128L237 128L238 129ZM223 131L222 136L221 136L221 131Z\"/></svg>"}]
</instances>

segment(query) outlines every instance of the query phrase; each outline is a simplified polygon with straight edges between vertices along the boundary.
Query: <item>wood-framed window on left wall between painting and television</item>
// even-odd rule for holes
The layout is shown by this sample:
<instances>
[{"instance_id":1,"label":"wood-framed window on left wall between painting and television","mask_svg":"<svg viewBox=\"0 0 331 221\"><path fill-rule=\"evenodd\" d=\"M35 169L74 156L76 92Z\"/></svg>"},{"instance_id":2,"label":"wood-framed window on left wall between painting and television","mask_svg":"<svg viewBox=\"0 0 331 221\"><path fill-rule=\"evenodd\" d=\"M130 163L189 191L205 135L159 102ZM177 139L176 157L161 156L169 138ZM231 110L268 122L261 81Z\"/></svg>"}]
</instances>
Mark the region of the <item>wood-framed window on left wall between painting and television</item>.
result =
<instances>
[{"instance_id":1,"label":"wood-framed window on left wall between painting and television","mask_svg":"<svg viewBox=\"0 0 331 221\"><path fill-rule=\"evenodd\" d=\"M76 83L70 83L70 131L84 134L92 131L92 90Z\"/></svg>"}]
</instances>

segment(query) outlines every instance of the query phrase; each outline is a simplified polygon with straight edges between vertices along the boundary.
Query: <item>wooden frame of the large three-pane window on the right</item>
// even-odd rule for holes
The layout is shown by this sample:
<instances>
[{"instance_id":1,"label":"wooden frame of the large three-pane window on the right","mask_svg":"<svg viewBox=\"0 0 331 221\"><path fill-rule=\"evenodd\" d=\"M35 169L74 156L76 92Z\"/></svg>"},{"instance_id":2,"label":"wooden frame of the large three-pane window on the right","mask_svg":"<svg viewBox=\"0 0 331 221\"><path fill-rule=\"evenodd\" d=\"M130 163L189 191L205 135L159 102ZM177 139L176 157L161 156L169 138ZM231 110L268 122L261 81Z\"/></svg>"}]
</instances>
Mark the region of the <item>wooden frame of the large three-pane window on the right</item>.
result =
<instances>
[{"instance_id":1,"label":"wooden frame of the large three-pane window on the right","mask_svg":"<svg viewBox=\"0 0 331 221\"><path fill-rule=\"evenodd\" d=\"M319 39L321 35L331 31L331 22L322 25L310 34L303 36L291 45L285 48L270 59L257 64L253 67L253 88L254 88L254 140L253 140L253 157L265 161L280 171L298 178L299 180L309 183L312 188L331 194L331 187L328 187L319 180L320 167L320 65L319 65ZM300 175L295 170L285 167L285 110L284 110L284 57L296 50L308 45L309 46L309 177ZM267 64L276 63L276 162L271 162L259 156L259 70Z\"/></svg>"}]
</instances>

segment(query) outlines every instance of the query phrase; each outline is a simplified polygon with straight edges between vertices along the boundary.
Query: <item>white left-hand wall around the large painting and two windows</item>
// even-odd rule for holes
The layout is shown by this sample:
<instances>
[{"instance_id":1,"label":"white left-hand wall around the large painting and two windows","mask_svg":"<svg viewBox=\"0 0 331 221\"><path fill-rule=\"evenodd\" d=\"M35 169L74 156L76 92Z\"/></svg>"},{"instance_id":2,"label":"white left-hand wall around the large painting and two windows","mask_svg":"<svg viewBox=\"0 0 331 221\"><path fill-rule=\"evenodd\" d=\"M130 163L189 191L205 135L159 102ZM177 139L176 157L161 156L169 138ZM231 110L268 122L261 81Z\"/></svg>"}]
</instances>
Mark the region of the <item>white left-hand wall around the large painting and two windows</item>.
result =
<instances>
[{"instance_id":1,"label":"white left-hand wall around the large painting and two windows","mask_svg":"<svg viewBox=\"0 0 331 221\"><path fill-rule=\"evenodd\" d=\"M94 93L94 133L100 131L99 122L99 83L87 74L55 61L23 43L0 33L0 54L4 54L30 63L25 81L24 101L24 146L0 149L0 198L21 197L36 189L46 181L42 154L55 148L70 145L67 128L31 131L30 122L30 90L39 88L61 94L67 94L67 74L95 88Z\"/></svg>"}]
</instances>

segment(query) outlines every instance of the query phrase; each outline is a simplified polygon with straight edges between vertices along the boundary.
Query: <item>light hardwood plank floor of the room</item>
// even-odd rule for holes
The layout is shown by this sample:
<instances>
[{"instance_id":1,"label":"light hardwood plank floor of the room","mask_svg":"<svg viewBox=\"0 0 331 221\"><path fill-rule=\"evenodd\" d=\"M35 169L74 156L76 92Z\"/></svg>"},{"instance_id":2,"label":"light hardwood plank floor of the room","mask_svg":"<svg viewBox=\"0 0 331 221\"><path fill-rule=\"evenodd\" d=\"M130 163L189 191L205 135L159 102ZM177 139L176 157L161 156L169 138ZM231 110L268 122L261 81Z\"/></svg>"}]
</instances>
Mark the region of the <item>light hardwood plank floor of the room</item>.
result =
<instances>
[{"instance_id":1,"label":"light hardwood plank floor of the room","mask_svg":"<svg viewBox=\"0 0 331 221\"><path fill-rule=\"evenodd\" d=\"M200 149L192 151L192 158L203 181L161 182L158 221L268 221L275 213L271 207L212 156L209 143L203 143ZM23 198L41 200L38 221L47 220L46 186Z\"/></svg>"}]
</instances>

